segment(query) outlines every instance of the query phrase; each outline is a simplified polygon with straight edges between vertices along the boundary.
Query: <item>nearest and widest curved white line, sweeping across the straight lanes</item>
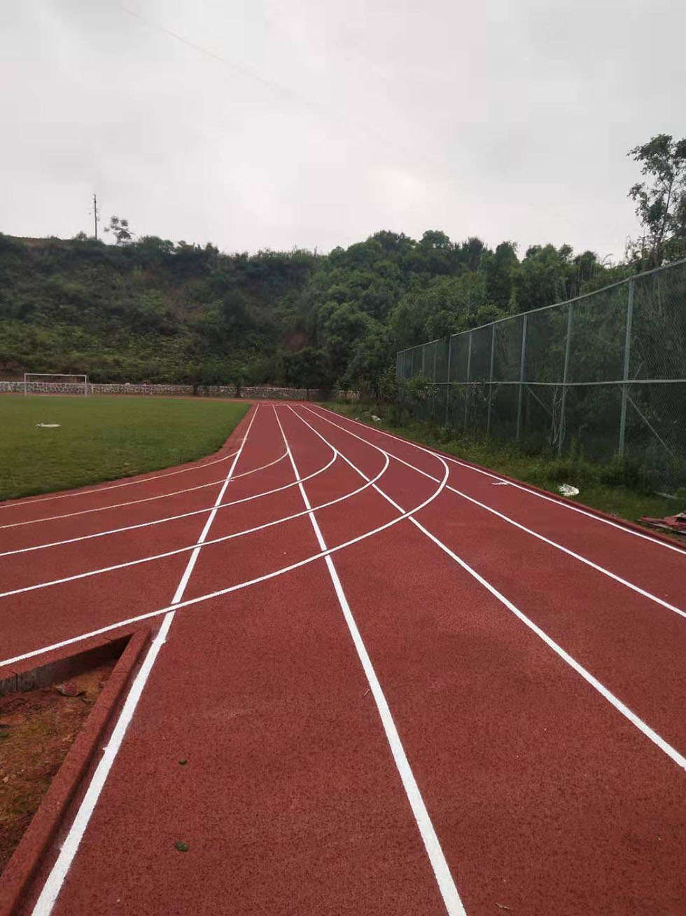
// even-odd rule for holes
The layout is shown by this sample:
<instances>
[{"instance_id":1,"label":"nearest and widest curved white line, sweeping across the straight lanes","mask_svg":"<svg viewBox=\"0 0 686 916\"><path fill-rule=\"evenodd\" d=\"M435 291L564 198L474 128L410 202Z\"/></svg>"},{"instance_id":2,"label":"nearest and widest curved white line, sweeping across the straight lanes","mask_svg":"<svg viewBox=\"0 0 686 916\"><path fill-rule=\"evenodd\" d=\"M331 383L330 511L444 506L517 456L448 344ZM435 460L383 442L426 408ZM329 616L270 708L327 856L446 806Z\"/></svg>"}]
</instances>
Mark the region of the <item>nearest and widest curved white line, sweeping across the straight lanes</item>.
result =
<instances>
[{"instance_id":1,"label":"nearest and widest curved white line, sweeping across the straight lanes","mask_svg":"<svg viewBox=\"0 0 686 916\"><path fill-rule=\"evenodd\" d=\"M341 458L343 455L341 455ZM391 456L392 457L392 456ZM304 478L306 479L306 478ZM321 557L328 556L329 553L336 553L338 551L345 550L345 548L350 547L352 544L359 543L360 540L366 540L367 538L373 537L375 534L379 534L380 531L385 531L387 528L391 528L393 525L397 525L398 522L401 522L404 518L410 518L414 512L419 512L423 507L428 506L429 503L433 502L436 496L439 496L445 487L445 483L448 479L448 469L445 468L445 477L441 481L440 485L434 490L430 496L427 496L426 499L418 506L409 509L407 512L404 512L402 516L397 516L396 518L391 518L390 521L385 522L383 525L380 525L378 528L370 529L365 531L363 534L359 534L356 538L351 538L350 540L345 540L341 544L337 544L336 547L329 547L327 551L321 553L314 553L310 557L305 557L304 560L298 560L295 563L290 563L288 566L282 566L280 569L273 570L272 573L264 573L263 575L256 576L254 579L247 579L245 582L237 583L235 585L229 585L226 588L221 588L216 592L209 592L208 594L200 594L197 598L190 598L187 601L179 602L178 605L170 605L167 607L160 607L155 611L148 611L146 614L138 614L134 617L126 617L124 620L118 620L116 623L108 624L106 627L99 627L98 629L90 630L88 633L80 633L79 636L70 637L69 639L62 639L59 642L52 643L49 646L43 646L41 649L32 649L30 652L24 652L22 655L16 655L12 659L5 659L0 661L0 665L12 665L17 661L23 661L25 659L32 659L34 656L43 655L45 652L49 652L52 649L62 649L64 646L70 646L72 643L80 642L82 639L90 639L94 636L101 636L102 633L109 633L110 630L119 629L120 627L128 627L131 624L138 623L141 620L149 620L151 617L160 616L166 614L167 611L178 609L179 607L190 607L192 605L199 605L205 601L210 601L212 598L219 598L221 595L230 594L231 592L238 592L243 588L249 588L251 585L257 585L261 582L267 582L269 579L275 579L277 576L284 575L284 573L290 573L291 570L299 569L301 566L306 566L308 563L315 562Z\"/></svg>"}]
</instances>

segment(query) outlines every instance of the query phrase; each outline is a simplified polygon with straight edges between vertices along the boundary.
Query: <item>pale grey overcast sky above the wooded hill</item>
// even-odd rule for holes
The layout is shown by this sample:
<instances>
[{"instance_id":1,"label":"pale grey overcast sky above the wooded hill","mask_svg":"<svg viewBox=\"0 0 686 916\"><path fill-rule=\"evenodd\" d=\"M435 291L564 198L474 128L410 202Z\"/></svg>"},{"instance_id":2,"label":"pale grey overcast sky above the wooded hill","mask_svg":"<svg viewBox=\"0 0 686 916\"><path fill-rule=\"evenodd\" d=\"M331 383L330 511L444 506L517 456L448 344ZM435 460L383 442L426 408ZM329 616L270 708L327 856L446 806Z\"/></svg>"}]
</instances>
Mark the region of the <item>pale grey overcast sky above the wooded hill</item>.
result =
<instances>
[{"instance_id":1,"label":"pale grey overcast sky above the wooded hill","mask_svg":"<svg viewBox=\"0 0 686 916\"><path fill-rule=\"evenodd\" d=\"M0 231L91 233L97 191L103 224L226 251L621 256L627 149L686 135L685 30L682 0L5 2Z\"/></svg>"}]
</instances>

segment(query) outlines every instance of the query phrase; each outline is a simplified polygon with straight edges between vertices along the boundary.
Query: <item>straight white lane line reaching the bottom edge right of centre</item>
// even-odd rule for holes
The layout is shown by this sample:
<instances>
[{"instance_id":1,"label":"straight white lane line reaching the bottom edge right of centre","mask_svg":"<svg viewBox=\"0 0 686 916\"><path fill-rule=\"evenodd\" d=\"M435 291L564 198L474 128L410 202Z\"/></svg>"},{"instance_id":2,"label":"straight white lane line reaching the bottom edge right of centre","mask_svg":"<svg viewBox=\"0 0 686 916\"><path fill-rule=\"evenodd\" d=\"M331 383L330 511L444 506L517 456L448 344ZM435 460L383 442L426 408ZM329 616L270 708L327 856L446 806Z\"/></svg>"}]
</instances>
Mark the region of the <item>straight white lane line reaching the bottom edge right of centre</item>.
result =
<instances>
[{"instance_id":1,"label":"straight white lane line reaching the bottom edge right of centre","mask_svg":"<svg viewBox=\"0 0 686 916\"><path fill-rule=\"evenodd\" d=\"M305 493L305 486L303 485L302 480L299 479L300 474L295 463L295 458L293 457L293 453L291 452L290 446L285 437L284 428L281 425L281 420L279 420L279 415L276 412L276 409L274 409L274 415L276 416L276 421L279 424L281 434L284 437L286 451L288 453L288 457L291 459L295 478L298 480L300 495L303 497L305 507L308 509L308 515L310 521L312 522L312 528L315 530L317 543L319 544L319 547L322 551L326 551L327 543L324 540L324 536L322 535L321 529L319 528L315 514L312 511L310 501L307 498L307 494ZM334 591L336 592L336 596L338 598L338 604L340 605L340 609L343 612L343 617L345 618L346 624L348 625L350 637L352 638L353 645L357 650L358 658L360 664L362 665L362 670L364 671L367 677L367 682L370 685L371 695L374 697L374 702L376 703L377 710L379 711L381 725L383 725L383 731L386 735L386 740L389 743L389 747L391 747L391 754L402 780L402 787L405 790L407 800L410 802L410 807L412 808L415 823L417 824L419 833L422 836L426 855L429 856L431 867L434 869L434 876L436 883L438 884L438 889L440 890L441 896L443 897L445 903L445 910L449 913L449 916L466 916L465 908L462 905L462 900L460 900L460 896L457 893L455 881L453 880L453 876L450 874L450 868L448 867L448 864L445 860L444 851L434 830L434 824L432 823L431 817L429 816L429 812L426 810L426 805L424 804L422 793L419 790L419 786L417 785L417 780L414 779L413 770L410 766L409 760L407 759L407 755L405 754L405 749L402 747L401 737L398 734L398 729L396 728L395 722L393 721L391 709L381 689L381 684L377 678L376 671L374 671L374 666L371 663L367 647L365 646L364 641L359 633L359 628L355 621L355 617L350 610L348 598L343 591L343 586L338 577L338 571L334 565L333 560L328 554L325 557L325 562L327 563L328 574L331 577L331 582L333 583Z\"/></svg>"}]
</instances>

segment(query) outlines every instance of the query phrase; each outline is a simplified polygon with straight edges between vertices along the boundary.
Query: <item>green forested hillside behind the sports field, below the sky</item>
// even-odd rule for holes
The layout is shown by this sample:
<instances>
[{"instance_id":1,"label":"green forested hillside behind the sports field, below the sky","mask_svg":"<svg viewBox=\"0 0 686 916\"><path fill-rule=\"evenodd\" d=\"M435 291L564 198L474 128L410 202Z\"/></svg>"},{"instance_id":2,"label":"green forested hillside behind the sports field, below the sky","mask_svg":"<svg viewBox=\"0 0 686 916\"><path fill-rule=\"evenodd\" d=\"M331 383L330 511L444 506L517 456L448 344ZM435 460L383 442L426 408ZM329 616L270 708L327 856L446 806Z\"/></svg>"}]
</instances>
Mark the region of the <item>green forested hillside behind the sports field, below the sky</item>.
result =
<instances>
[{"instance_id":1,"label":"green forested hillside behind the sports field, below the sky","mask_svg":"<svg viewBox=\"0 0 686 916\"><path fill-rule=\"evenodd\" d=\"M598 289L568 245L379 232L327 256L0 234L0 373L375 388L397 349Z\"/></svg>"}]
</instances>

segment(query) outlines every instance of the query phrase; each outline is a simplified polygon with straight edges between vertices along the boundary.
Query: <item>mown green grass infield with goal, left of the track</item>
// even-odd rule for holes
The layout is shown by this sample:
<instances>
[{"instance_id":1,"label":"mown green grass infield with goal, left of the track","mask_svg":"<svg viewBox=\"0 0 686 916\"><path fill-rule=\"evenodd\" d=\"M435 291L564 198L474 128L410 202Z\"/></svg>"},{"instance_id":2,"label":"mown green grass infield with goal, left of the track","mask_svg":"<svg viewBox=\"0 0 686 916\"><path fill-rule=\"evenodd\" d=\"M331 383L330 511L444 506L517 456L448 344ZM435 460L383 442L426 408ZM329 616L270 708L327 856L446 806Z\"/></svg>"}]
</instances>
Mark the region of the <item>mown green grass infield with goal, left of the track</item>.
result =
<instances>
[{"instance_id":1,"label":"mown green grass infield with goal, left of the track","mask_svg":"<svg viewBox=\"0 0 686 916\"><path fill-rule=\"evenodd\" d=\"M3 395L0 500L192 461L216 452L248 407L204 398Z\"/></svg>"}]
</instances>

